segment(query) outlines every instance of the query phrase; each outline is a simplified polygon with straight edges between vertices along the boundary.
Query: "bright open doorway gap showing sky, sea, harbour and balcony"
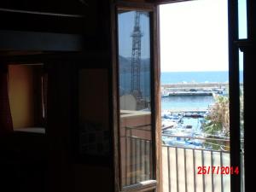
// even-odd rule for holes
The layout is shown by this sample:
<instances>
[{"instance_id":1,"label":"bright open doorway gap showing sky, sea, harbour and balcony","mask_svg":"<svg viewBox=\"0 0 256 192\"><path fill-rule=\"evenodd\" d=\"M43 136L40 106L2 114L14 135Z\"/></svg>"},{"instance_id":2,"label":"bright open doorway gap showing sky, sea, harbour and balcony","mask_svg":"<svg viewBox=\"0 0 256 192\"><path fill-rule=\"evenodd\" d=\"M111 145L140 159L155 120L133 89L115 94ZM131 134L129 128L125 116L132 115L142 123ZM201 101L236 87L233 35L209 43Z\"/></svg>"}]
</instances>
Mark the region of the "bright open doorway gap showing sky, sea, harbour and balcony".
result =
<instances>
[{"instance_id":1,"label":"bright open doorway gap showing sky, sea, harbour and balcony","mask_svg":"<svg viewBox=\"0 0 256 192\"><path fill-rule=\"evenodd\" d=\"M227 1L160 5L163 191L230 191Z\"/></svg>"}]
</instances>

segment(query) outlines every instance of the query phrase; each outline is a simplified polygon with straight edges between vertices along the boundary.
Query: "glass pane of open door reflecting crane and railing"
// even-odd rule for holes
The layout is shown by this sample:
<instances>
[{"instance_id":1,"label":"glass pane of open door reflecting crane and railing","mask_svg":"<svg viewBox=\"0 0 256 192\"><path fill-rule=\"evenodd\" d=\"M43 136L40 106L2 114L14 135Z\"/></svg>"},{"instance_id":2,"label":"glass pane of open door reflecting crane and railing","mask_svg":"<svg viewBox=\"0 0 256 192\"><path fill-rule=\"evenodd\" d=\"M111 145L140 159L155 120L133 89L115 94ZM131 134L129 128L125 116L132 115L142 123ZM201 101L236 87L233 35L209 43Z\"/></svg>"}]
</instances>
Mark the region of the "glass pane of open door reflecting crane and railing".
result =
<instances>
[{"instance_id":1,"label":"glass pane of open door reflecting crane and railing","mask_svg":"<svg viewBox=\"0 0 256 192\"><path fill-rule=\"evenodd\" d=\"M119 10L122 186L152 178L149 13Z\"/></svg>"}]
</instances>

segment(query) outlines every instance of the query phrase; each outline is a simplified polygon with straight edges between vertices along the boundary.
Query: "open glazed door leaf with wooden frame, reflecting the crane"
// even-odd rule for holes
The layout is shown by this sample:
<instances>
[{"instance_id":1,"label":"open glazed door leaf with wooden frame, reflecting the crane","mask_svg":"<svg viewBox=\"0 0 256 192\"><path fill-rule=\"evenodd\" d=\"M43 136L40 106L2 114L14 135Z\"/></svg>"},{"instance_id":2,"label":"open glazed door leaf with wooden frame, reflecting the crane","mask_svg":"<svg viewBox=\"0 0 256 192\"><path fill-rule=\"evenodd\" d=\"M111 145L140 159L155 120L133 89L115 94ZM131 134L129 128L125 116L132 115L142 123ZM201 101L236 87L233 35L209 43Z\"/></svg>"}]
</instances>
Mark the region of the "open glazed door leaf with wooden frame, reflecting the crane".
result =
<instances>
[{"instance_id":1,"label":"open glazed door leaf with wooden frame, reflecting the crane","mask_svg":"<svg viewBox=\"0 0 256 192\"><path fill-rule=\"evenodd\" d=\"M136 3L135 3L136 4ZM158 91L155 89L157 73L153 63L156 33L156 11L152 4L134 9L119 3L115 9L117 22L114 23L117 33L117 47L113 47L117 67L113 68L113 90L118 100L114 106L118 116L114 121L115 155L119 157L119 165L115 165L115 187L120 191L153 191L160 183L159 165L156 159L160 155L158 145L159 128L158 108L155 103ZM117 117L117 118L116 118Z\"/></svg>"}]
</instances>

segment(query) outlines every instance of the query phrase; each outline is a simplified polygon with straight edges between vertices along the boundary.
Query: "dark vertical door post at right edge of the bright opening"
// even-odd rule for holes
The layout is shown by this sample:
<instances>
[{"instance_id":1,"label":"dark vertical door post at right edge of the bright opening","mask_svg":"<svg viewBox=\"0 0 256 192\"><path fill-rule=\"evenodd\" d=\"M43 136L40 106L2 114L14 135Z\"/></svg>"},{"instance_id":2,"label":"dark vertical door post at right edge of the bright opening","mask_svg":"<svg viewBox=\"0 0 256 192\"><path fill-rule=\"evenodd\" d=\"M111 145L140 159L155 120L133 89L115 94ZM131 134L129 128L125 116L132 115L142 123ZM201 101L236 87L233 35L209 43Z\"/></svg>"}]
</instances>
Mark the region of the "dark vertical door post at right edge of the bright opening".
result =
<instances>
[{"instance_id":1,"label":"dark vertical door post at right edge of the bright opening","mask_svg":"<svg viewBox=\"0 0 256 192\"><path fill-rule=\"evenodd\" d=\"M158 0L158 4L178 3L195 0ZM249 1L249 0L247 0ZM227 0L229 31L229 91L230 91L230 166L241 167L240 140L240 90L239 90L239 53L235 42L238 39L238 0ZM245 139L246 140L246 139ZM246 145L246 144L245 144ZM232 192L241 192L241 172L230 175Z\"/></svg>"}]
</instances>

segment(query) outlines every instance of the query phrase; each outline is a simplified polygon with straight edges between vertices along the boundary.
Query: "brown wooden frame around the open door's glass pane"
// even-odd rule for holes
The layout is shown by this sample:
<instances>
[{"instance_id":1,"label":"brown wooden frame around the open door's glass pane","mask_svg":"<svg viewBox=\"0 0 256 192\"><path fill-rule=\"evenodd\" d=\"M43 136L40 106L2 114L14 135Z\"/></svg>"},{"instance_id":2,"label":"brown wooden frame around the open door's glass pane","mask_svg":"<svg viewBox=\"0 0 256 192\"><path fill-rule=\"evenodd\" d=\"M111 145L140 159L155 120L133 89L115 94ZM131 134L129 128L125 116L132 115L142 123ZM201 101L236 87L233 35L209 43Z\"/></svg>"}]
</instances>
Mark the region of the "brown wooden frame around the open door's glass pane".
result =
<instances>
[{"instance_id":1,"label":"brown wooden frame around the open door's glass pane","mask_svg":"<svg viewBox=\"0 0 256 192\"><path fill-rule=\"evenodd\" d=\"M145 10L151 13L150 18L150 51L151 51L151 96L152 98L152 138L153 138L153 176L157 182L147 185L134 185L122 188L120 183L120 154L119 154L119 70L118 70L118 26L117 10ZM159 46L159 11L154 3L129 3L119 2L111 5L111 34L112 34L112 93L113 93L113 168L114 188L119 191L161 191L161 134L160 134L160 46Z\"/></svg>"}]
</instances>

